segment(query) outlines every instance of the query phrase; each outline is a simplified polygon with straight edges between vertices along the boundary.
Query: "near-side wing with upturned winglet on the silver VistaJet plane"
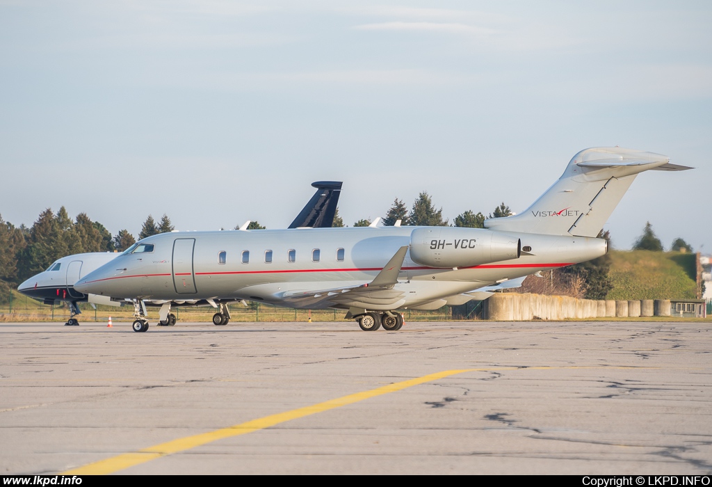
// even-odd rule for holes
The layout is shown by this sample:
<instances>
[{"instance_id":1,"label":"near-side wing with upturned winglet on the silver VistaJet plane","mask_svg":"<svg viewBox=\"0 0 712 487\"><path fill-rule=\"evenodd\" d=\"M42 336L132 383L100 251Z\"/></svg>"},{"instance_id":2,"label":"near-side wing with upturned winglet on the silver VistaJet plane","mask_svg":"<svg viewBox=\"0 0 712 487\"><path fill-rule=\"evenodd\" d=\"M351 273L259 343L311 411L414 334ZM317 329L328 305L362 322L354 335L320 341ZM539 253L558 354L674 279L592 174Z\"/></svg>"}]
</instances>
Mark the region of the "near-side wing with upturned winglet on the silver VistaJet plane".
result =
<instances>
[{"instance_id":1,"label":"near-side wing with upturned winglet on the silver VistaJet plane","mask_svg":"<svg viewBox=\"0 0 712 487\"><path fill-rule=\"evenodd\" d=\"M302 308L328 308L333 305L347 305L350 308L390 310L404 302L405 293L394 289L398 274L403 266L408 246L402 246L382 268L373 281L361 286L330 288L324 290L291 291L281 299Z\"/></svg>"}]
</instances>

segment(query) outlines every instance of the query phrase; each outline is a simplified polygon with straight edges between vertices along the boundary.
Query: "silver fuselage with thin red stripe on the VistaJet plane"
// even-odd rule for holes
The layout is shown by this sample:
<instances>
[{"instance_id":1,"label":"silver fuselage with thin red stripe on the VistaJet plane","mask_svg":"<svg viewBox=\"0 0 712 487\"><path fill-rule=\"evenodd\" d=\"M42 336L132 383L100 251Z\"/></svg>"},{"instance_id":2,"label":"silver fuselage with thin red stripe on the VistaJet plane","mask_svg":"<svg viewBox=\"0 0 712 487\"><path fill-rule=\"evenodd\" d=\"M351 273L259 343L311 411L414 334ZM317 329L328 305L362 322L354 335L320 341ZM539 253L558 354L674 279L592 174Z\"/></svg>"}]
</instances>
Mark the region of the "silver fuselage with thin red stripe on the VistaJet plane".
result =
<instances>
[{"instance_id":1,"label":"silver fuselage with thin red stripe on the VistaJet plane","mask_svg":"<svg viewBox=\"0 0 712 487\"><path fill-rule=\"evenodd\" d=\"M399 248L412 244L412 232L423 228L439 229L388 226L159 234L140 241L145 247L118 256L86 276L77 287L85 293L114 298L172 300L178 304L245 299L293 308L349 308L328 300L299 302L290 298L369 283ZM450 231L468 232L468 238L434 240L434 252L473 252L486 241L481 237L492 233L486 229ZM415 262L409 252L394 286L402 298L382 306L374 302L369 308L394 310L428 303L587 261L607 250L602 239L515 232L499 235L520 241L528 252L518 258L458 268L425 266ZM148 248L150 251L146 251Z\"/></svg>"}]
</instances>

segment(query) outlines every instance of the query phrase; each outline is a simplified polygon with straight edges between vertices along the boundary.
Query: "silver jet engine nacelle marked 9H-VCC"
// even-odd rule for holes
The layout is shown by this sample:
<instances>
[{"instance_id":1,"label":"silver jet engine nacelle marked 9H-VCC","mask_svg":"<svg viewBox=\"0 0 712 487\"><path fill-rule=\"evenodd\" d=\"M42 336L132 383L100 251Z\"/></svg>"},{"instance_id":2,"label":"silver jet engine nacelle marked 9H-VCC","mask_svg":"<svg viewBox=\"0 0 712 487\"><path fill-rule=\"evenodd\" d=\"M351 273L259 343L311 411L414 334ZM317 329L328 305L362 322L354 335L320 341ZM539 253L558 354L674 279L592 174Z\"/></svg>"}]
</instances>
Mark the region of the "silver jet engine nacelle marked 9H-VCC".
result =
<instances>
[{"instance_id":1,"label":"silver jet engine nacelle marked 9H-VCC","mask_svg":"<svg viewBox=\"0 0 712 487\"><path fill-rule=\"evenodd\" d=\"M410 258L422 266L479 266L518 258L520 252L520 240L499 231L427 226L410 234Z\"/></svg>"}]
</instances>

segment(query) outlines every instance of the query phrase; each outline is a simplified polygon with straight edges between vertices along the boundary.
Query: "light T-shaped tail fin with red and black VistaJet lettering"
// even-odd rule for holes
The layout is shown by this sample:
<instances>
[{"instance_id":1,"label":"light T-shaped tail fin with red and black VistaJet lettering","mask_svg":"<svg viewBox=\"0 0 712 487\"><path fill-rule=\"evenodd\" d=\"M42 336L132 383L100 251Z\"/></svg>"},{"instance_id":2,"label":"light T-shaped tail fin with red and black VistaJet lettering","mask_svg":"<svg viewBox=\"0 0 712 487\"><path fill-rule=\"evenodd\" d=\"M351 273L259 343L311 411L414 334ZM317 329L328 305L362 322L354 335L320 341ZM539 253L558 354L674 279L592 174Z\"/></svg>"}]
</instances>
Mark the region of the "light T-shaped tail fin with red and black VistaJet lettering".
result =
<instances>
[{"instance_id":1,"label":"light T-shaped tail fin with red and black VistaJet lettering","mask_svg":"<svg viewBox=\"0 0 712 487\"><path fill-rule=\"evenodd\" d=\"M575 155L564 174L518 215L487 219L487 229L595 237L637 174L684 171L670 158L622 147L593 147Z\"/></svg>"}]
</instances>

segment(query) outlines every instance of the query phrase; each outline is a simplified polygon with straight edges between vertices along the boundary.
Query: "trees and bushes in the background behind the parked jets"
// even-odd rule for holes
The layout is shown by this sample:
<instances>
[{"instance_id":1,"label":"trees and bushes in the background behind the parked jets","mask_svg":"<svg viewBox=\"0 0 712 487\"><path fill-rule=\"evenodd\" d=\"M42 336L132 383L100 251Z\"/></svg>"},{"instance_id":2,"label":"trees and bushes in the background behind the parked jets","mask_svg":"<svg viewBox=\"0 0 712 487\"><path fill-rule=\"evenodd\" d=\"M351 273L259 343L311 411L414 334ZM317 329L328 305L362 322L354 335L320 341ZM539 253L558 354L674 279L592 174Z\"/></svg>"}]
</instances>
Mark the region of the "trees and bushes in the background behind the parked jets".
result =
<instances>
[{"instance_id":1,"label":"trees and bushes in the background behind the parked jets","mask_svg":"<svg viewBox=\"0 0 712 487\"><path fill-rule=\"evenodd\" d=\"M484 216L480 211L477 213L471 210L464 211L455 217L453 226L481 229L484 228L485 219L501 218L511 214L513 213L509 206L503 202L488 216ZM448 219L443 218L442 208L436 209L427 192L420 193L410 209L402 199L394 199L382 224L392 226L398 220L403 226L451 225ZM354 223L354 226L369 226L370 224L369 219L360 219ZM333 226L345 226L342 218L338 215L338 209ZM239 229L239 227L238 225L235 229ZM251 221L247 229L265 229L265 227L257 221ZM158 222L149 215L138 234L138 240L173 230L174 226L166 214ZM610 239L609 233L603 231L599 237ZM24 224L16 227L9 221L4 221L0 215L0 299L1 296L7 294L9 288L16 288L22 281L44 271L58 258L84 252L121 252L135 244L136 240L126 229L122 229L112 236L103 224L92 221L85 213L78 214L73 220L67 214L64 206L56 214L50 208L42 211L30 228ZM649 222L633 249L664 250ZM674 240L671 250L691 252L692 247L683 239L677 238ZM550 283L547 286L543 286L543 282L540 282L536 283L536 286L534 284L525 286L525 290L531 288L530 290L535 292L534 288L541 287L552 292L561 292L562 288L565 288L569 295L603 299L612 288L612 283L608 278L609 267L609 256L602 256L592 261L553 271L549 276ZM557 286L553 286L554 281L558 283ZM535 283L528 279L525 284L530 282Z\"/></svg>"}]
</instances>

